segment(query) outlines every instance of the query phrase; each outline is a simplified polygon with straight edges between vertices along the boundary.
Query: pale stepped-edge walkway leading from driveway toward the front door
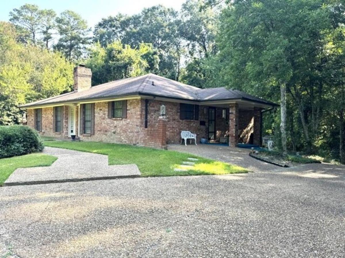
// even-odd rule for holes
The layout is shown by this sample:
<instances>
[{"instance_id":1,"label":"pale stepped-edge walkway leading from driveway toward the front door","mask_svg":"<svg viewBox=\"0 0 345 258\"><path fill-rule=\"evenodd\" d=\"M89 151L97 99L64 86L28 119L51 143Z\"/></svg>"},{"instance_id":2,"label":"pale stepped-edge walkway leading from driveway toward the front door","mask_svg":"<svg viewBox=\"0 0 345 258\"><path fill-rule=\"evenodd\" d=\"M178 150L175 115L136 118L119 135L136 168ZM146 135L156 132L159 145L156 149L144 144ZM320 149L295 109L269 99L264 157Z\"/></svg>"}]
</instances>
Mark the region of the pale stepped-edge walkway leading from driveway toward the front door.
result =
<instances>
[{"instance_id":1,"label":"pale stepped-edge walkway leading from driveway toward the front door","mask_svg":"<svg viewBox=\"0 0 345 258\"><path fill-rule=\"evenodd\" d=\"M58 159L50 167L18 168L4 185L34 185L140 176L137 165L109 166L106 155L51 147L45 147L43 153L56 156Z\"/></svg>"}]
</instances>

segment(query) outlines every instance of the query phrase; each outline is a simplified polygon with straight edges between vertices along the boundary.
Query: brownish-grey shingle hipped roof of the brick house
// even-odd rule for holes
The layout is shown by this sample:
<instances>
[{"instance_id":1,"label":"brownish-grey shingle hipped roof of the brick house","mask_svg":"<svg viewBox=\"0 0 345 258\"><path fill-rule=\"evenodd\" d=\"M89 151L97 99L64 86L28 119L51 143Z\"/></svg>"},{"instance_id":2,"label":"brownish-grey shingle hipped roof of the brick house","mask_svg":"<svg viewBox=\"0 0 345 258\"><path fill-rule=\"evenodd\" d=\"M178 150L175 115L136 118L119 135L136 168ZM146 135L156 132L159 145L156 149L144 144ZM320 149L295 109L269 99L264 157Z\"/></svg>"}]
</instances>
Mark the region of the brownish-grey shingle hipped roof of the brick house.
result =
<instances>
[{"instance_id":1,"label":"brownish-grey shingle hipped roof of the brick house","mask_svg":"<svg viewBox=\"0 0 345 258\"><path fill-rule=\"evenodd\" d=\"M57 103L79 102L90 99L107 99L129 95L153 95L192 101L245 99L271 106L277 106L273 102L254 97L242 91L229 90L224 87L200 89L148 73L147 75L121 79L93 86L90 89L81 92L69 92L56 97L35 101L22 105L21 107L53 105Z\"/></svg>"}]
</instances>

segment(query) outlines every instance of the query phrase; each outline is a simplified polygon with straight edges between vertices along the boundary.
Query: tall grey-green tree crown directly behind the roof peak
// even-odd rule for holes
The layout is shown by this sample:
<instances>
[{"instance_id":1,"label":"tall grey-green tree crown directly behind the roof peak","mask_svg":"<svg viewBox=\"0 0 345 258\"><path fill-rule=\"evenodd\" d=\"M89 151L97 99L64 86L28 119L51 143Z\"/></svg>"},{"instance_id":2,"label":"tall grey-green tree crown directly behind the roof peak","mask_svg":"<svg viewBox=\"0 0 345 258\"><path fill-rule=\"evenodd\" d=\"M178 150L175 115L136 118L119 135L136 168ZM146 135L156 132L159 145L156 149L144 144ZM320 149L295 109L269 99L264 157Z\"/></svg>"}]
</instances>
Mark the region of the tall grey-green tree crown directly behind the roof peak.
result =
<instances>
[{"instance_id":1,"label":"tall grey-green tree crown directly behind the roof peak","mask_svg":"<svg viewBox=\"0 0 345 258\"><path fill-rule=\"evenodd\" d=\"M158 5L143 9L139 14L102 19L95 27L94 41L106 47L114 41L139 48L141 43L152 45L159 61L156 73L178 80L181 70L181 59L185 53L180 34L178 33L178 12Z\"/></svg>"}]
</instances>

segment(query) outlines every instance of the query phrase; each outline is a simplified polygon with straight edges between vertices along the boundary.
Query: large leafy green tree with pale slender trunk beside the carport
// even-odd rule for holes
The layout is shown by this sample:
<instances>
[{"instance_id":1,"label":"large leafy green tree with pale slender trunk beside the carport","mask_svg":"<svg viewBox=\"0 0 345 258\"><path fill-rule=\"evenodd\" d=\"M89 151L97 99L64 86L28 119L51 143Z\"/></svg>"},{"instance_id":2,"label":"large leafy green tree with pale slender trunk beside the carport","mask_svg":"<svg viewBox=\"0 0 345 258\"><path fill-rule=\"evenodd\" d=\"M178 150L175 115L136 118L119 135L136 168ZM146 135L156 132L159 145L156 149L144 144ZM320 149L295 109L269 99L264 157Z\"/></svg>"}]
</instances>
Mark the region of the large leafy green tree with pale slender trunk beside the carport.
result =
<instances>
[{"instance_id":1,"label":"large leafy green tree with pale slender trunk beside the carport","mask_svg":"<svg viewBox=\"0 0 345 258\"><path fill-rule=\"evenodd\" d=\"M312 86L306 82L316 73L320 61L325 37L322 32L330 28L328 11L322 3L321 0L237 0L221 18L218 61L223 66L223 83L253 90L267 86L280 88L283 153L286 153L286 92L300 105L302 88L317 87L317 81ZM300 119L303 124L302 112ZM305 137L310 146L307 134Z\"/></svg>"}]
</instances>

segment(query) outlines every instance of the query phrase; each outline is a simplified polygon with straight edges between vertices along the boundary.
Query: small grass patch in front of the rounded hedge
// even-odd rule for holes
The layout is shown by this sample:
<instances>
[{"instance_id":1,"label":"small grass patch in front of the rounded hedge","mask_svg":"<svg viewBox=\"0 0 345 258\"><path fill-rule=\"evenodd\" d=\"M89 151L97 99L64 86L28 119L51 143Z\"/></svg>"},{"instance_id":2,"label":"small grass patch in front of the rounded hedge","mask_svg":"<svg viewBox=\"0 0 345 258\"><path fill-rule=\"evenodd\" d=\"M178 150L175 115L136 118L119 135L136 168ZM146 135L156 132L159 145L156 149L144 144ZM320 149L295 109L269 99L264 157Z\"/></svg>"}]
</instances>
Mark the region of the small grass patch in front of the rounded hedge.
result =
<instances>
[{"instance_id":1,"label":"small grass patch in front of the rounded hedge","mask_svg":"<svg viewBox=\"0 0 345 258\"><path fill-rule=\"evenodd\" d=\"M0 159L0 186L17 168L46 167L55 160L56 157L41 153Z\"/></svg>"}]
</instances>

